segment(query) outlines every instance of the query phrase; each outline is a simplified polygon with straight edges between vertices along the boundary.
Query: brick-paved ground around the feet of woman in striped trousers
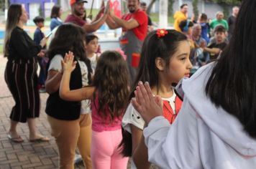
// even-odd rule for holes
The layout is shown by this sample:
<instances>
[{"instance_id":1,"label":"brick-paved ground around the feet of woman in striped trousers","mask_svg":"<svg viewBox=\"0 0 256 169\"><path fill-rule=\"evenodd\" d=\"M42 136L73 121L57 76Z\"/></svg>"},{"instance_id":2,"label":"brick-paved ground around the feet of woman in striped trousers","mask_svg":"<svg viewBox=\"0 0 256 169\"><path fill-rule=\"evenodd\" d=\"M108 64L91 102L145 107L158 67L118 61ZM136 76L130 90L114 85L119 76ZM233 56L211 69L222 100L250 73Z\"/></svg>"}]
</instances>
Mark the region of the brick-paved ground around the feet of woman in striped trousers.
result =
<instances>
[{"instance_id":1,"label":"brick-paved ground around the feet of woman in striped trousers","mask_svg":"<svg viewBox=\"0 0 256 169\"><path fill-rule=\"evenodd\" d=\"M18 132L24 143L12 143L6 132L9 130L9 114L14 100L4 82L6 59L0 54L0 169L9 168L58 168L58 149L55 140L50 136L50 125L46 120L45 101L47 94L40 94L41 110L37 119L37 128L42 135L50 137L49 143L30 143L27 124L19 124ZM84 168L83 163L76 168Z\"/></svg>"}]
</instances>

